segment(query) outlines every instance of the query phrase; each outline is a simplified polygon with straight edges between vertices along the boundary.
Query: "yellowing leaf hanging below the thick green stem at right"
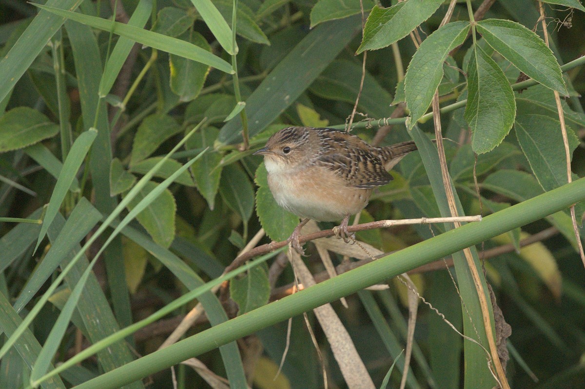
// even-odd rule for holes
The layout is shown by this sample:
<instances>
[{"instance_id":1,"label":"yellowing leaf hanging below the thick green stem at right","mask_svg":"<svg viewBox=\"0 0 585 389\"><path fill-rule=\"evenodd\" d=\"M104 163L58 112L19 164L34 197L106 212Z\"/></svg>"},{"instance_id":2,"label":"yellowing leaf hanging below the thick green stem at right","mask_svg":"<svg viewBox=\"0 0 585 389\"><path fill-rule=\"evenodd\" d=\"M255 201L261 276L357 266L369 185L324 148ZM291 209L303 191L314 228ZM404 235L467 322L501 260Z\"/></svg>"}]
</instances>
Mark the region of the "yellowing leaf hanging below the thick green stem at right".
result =
<instances>
[{"instance_id":1,"label":"yellowing leaf hanging below the thick green stem at right","mask_svg":"<svg viewBox=\"0 0 585 389\"><path fill-rule=\"evenodd\" d=\"M520 235L522 239L528 238L529 236L530 235L524 231L522 231ZM498 235L492 240L500 244L510 243L510 237L507 234ZM560 298L563 280L555 261L555 257L550 253L549 249L546 248L542 242L536 242L521 248L520 257L532 266L538 276L541 277L542 281L546 284L550 293L556 298Z\"/></svg>"}]
</instances>

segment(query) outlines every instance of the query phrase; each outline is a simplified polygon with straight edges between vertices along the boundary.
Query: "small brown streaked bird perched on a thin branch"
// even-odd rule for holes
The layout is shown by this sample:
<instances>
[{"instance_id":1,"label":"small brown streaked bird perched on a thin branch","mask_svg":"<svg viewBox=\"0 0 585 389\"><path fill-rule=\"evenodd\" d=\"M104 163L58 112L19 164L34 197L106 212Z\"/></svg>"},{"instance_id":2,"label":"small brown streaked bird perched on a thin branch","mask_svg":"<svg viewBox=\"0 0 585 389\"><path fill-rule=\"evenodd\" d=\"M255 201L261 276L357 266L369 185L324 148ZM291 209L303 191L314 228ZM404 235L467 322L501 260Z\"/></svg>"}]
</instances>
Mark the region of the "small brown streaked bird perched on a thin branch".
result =
<instances>
[{"instance_id":1,"label":"small brown streaked bird perched on a thin branch","mask_svg":"<svg viewBox=\"0 0 585 389\"><path fill-rule=\"evenodd\" d=\"M288 127L254 155L264 155L268 185L278 205L304 218L289 238L304 253L298 237L309 219L343 219L338 235L347 242L349 216L366 207L373 189L393 179L388 170L414 150L412 141L374 147L345 131Z\"/></svg>"}]
</instances>

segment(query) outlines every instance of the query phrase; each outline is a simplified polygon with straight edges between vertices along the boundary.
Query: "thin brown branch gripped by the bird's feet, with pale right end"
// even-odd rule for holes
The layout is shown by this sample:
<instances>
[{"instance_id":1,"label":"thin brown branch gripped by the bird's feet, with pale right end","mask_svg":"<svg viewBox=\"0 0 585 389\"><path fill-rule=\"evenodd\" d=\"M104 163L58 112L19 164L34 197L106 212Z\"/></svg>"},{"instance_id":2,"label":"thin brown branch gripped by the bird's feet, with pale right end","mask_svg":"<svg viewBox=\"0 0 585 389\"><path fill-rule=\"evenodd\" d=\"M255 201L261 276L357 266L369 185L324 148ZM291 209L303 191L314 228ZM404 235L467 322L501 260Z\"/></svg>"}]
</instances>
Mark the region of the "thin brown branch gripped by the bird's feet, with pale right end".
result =
<instances>
[{"instance_id":1,"label":"thin brown branch gripped by the bird's feet, with pale right end","mask_svg":"<svg viewBox=\"0 0 585 389\"><path fill-rule=\"evenodd\" d=\"M370 223L363 223L357 225L349 225L347 226L347 231L349 232L357 232L357 231L366 231L366 230L375 230L376 228L387 228L387 227L394 227L395 225L409 225L409 224L428 224L428 223L453 223L454 221L460 222L468 222L468 221L481 221L481 216L464 216L464 217L457 217L457 218L450 218L450 217L422 217L419 219L403 219L403 220L378 220L378 221L371 221ZM300 243L305 243L308 241L312 241L319 238L328 238L335 235L333 232L333 228L331 230L323 230L314 232L312 234L301 235L299 237ZM282 242L270 242L261 246L257 246L250 251L240 254L233 260L230 265L225 268L224 274L230 272L233 269L239 268L242 266L242 263L248 261L254 256L264 255L266 253L272 252L279 248L282 248L288 244L288 241Z\"/></svg>"}]
</instances>

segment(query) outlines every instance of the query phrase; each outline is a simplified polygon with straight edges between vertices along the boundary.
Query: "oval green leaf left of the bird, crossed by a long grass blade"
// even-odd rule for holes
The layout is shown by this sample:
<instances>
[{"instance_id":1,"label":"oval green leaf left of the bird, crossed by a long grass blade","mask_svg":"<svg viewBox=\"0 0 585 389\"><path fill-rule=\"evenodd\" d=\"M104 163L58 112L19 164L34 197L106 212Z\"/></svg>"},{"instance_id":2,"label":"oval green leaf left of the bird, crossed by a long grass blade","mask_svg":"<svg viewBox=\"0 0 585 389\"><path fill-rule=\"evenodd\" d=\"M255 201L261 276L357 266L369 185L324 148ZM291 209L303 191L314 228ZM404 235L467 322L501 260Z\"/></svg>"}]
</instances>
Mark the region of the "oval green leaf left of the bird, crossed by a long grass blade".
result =
<instances>
[{"instance_id":1,"label":"oval green leaf left of the bird, crossed by a long grass blade","mask_svg":"<svg viewBox=\"0 0 585 389\"><path fill-rule=\"evenodd\" d=\"M136 197L128 203L128 209L133 210L157 185L159 184L156 182L147 182L143 189L136 194ZM176 210L177 204L173 194L170 190L165 189L159 197L137 214L136 220L142 224L142 227L149 233L156 244L168 248L175 238Z\"/></svg>"}]
</instances>

